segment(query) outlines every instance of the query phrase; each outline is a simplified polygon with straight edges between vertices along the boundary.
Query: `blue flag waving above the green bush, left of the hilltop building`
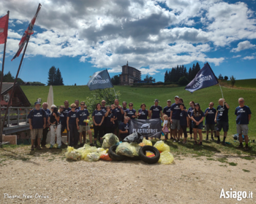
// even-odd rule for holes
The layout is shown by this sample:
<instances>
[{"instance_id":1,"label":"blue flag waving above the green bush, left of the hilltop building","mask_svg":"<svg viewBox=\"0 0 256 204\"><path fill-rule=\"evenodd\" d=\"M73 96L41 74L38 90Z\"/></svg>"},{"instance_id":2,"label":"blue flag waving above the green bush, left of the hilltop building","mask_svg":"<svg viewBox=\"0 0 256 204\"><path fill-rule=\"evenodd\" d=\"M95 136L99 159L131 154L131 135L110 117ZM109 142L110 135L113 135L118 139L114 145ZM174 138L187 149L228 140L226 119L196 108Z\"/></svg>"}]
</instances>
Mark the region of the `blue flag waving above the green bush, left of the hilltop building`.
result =
<instances>
[{"instance_id":1,"label":"blue flag waving above the green bush, left of the hilltop building","mask_svg":"<svg viewBox=\"0 0 256 204\"><path fill-rule=\"evenodd\" d=\"M97 71L87 83L90 90L113 88L108 70Z\"/></svg>"}]
</instances>

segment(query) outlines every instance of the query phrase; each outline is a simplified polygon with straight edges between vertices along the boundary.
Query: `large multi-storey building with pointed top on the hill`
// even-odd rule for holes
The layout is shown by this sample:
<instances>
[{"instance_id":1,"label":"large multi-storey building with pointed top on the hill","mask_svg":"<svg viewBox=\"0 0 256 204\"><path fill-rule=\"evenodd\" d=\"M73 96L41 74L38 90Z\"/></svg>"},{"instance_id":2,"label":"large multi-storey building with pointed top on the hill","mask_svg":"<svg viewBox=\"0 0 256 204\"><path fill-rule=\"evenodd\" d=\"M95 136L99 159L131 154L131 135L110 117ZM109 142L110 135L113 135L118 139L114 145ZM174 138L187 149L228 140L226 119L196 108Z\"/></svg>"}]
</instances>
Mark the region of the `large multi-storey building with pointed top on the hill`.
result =
<instances>
[{"instance_id":1,"label":"large multi-storey building with pointed top on the hill","mask_svg":"<svg viewBox=\"0 0 256 204\"><path fill-rule=\"evenodd\" d=\"M122 66L122 73L120 76L120 85L133 85L135 82L140 81L141 71L137 68L127 65Z\"/></svg>"}]
</instances>

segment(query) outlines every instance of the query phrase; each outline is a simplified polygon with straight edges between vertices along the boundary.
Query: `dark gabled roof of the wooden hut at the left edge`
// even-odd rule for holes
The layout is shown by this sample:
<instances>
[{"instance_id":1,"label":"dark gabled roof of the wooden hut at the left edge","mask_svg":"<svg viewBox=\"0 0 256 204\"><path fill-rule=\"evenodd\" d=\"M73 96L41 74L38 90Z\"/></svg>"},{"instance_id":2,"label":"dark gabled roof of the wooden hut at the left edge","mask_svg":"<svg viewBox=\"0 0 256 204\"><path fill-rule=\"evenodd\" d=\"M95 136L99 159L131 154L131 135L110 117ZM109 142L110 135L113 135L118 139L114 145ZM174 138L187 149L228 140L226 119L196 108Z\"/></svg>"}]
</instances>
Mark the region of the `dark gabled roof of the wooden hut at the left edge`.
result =
<instances>
[{"instance_id":1,"label":"dark gabled roof of the wooden hut at the left edge","mask_svg":"<svg viewBox=\"0 0 256 204\"><path fill-rule=\"evenodd\" d=\"M18 83L15 84L14 94L12 98L10 98L12 92L13 83L12 82L3 82L1 87L1 106L7 106L8 102L11 100L10 106L15 107L29 107L31 104L29 103L29 99L26 98L25 93L20 88Z\"/></svg>"}]
</instances>

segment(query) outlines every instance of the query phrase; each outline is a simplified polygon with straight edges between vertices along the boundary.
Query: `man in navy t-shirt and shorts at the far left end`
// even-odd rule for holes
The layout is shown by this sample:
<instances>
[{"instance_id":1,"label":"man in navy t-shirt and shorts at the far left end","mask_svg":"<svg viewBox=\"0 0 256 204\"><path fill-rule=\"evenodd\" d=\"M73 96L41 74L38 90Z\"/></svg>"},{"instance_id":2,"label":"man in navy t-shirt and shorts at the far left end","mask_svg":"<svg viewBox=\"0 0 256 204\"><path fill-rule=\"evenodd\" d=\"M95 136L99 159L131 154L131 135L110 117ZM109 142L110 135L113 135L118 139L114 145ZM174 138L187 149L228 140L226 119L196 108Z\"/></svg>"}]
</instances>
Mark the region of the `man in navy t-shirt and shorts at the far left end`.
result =
<instances>
[{"instance_id":1,"label":"man in navy t-shirt and shorts at the far left end","mask_svg":"<svg viewBox=\"0 0 256 204\"><path fill-rule=\"evenodd\" d=\"M34 141L37 137L37 149L41 149L40 142L42 138L42 130L46 127L46 114L40 108L39 102L34 103L34 109L29 112L29 129L31 130L31 150L34 150Z\"/></svg>"}]
</instances>

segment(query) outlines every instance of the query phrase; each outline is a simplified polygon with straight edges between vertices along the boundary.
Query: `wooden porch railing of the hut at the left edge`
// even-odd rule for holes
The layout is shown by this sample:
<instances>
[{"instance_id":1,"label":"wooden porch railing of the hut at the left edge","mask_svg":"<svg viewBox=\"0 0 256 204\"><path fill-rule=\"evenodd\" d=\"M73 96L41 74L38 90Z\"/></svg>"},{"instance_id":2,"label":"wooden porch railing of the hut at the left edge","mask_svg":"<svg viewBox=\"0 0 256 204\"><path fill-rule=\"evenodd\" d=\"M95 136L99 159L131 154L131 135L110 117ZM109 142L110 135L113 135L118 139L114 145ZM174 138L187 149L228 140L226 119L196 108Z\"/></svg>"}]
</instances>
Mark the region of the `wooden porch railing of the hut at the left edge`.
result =
<instances>
[{"instance_id":1,"label":"wooden porch railing of the hut at the left edge","mask_svg":"<svg viewBox=\"0 0 256 204\"><path fill-rule=\"evenodd\" d=\"M7 107L1 107L1 111L6 111ZM7 118L4 122L3 134L17 133L23 130L29 130L29 119L27 119L31 107L10 107ZM4 119L4 116L1 116Z\"/></svg>"}]
</instances>

